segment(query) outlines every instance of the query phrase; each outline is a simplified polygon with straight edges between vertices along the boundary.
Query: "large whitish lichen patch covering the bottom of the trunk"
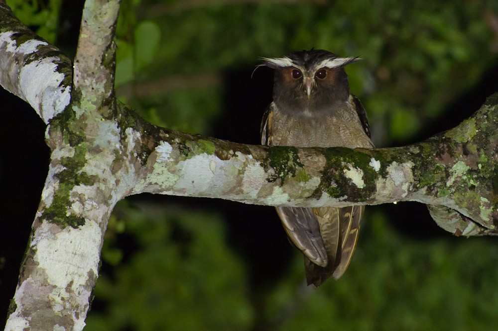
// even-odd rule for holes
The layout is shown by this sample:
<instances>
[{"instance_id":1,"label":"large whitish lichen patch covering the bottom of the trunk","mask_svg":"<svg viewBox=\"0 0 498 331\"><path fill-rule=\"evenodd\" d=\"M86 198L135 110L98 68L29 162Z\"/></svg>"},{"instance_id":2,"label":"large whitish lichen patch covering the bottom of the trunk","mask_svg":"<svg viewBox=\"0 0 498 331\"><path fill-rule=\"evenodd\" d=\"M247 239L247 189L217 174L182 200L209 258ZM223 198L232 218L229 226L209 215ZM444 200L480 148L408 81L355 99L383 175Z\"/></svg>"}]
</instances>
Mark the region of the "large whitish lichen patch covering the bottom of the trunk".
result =
<instances>
[{"instance_id":1,"label":"large whitish lichen patch covering the bottom of the trunk","mask_svg":"<svg viewBox=\"0 0 498 331\"><path fill-rule=\"evenodd\" d=\"M35 229L30 277L22 281L14 297L16 302L30 303L20 311L28 314L32 329L46 330L41 326L45 326L47 314L62 317L67 330L83 328L97 278L102 231L91 221L76 229L42 222Z\"/></svg>"}]
</instances>

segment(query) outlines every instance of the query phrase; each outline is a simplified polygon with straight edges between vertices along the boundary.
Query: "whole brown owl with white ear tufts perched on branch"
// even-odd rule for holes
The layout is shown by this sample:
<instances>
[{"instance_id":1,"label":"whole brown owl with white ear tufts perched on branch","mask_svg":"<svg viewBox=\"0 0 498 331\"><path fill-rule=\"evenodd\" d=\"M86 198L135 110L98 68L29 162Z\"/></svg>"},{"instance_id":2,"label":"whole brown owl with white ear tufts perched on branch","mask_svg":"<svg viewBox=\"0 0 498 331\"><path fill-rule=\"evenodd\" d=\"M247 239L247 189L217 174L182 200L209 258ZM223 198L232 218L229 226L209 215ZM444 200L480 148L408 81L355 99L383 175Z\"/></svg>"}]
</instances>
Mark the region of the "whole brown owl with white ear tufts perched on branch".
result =
<instances>
[{"instance_id":1,"label":"whole brown owl with white ear tufts perched on branch","mask_svg":"<svg viewBox=\"0 0 498 331\"><path fill-rule=\"evenodd\" d=\"M367 114L350 93L344 67L358 58L325 50L261 58L275 70L273 102L261 122L261 144L373 148ZM308 285L339 279L353 256L364 206L276 207L291 242L304 253Z\"/></svg>"}]
</instances>

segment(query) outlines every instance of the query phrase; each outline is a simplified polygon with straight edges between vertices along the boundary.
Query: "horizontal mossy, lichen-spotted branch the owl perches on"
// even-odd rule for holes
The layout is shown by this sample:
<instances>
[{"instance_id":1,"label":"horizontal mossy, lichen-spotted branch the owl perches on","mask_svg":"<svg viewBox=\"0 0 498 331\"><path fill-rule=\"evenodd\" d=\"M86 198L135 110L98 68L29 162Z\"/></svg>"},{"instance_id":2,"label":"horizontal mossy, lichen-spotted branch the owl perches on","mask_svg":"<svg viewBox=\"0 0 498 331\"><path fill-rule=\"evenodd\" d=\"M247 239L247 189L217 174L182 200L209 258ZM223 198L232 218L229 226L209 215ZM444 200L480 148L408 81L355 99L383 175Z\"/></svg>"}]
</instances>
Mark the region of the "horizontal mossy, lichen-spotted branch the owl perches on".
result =
<instances>
[{"instance_id":1,"label":"horizontal mossy, lichen-spotted branch the owl perches on","mask_svg":"<svg viewBox=\"0 0 498 331\"><path fill-rule=\"evenodd\" d=\"M144 167L133 193L298 207L418 201L491 230L457 234L491 233L498 216L497 99L458 127L399 148L250 146L144 127L135 140L147 144L138 148Z\"/></svg>"}]
</instances>

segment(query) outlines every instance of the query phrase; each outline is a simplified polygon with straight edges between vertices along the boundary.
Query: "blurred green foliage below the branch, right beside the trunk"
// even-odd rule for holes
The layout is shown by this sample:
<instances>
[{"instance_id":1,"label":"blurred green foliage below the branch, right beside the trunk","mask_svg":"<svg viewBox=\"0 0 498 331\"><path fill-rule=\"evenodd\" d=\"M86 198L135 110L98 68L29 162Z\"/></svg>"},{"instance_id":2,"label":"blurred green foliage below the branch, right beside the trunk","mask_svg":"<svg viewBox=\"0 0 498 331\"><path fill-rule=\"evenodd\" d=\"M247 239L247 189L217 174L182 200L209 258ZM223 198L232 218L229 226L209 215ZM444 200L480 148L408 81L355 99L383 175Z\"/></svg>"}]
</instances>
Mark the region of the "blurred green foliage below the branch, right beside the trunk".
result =
<instances>
[{"instance_id":1,"label":"blurred green foliage below the branch, right beside the trunk","mask_svg":"<svg viewBox=\"0 0 498 331\"><path fill-rule=\"evenodd\" d=\"M167 210L167 211L166 211ZM124 215L125 221L115 215ZM123 224L125 226L123 227ZM126 261L116 253L116 233L136 246ZM106 233L96 300L85 330L244 330L253 319L244 263L225 242L219 215L175 206L122 201Z\"/></svg>"}]
</instances>

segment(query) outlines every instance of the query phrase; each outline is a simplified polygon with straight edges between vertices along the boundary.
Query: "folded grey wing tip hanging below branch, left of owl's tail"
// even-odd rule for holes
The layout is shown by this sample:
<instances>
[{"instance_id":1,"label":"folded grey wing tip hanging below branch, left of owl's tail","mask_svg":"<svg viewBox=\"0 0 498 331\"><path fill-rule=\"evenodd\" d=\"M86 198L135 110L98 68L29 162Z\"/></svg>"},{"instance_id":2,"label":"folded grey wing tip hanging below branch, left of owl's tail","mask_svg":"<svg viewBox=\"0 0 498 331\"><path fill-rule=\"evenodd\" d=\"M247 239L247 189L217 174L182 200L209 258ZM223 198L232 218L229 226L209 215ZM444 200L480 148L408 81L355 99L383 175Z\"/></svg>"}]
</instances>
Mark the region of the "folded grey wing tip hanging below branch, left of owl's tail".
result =
<instances>
[{"instance_id":1,"label":"folded grey wing tip hanging below branch, left of owl's tail","mask_svg":"<svg viewBox=\"0 0 498 331\"><path fill-rule=\"evenodd\" d=\"M320 224L313 208L275 207L292 243L313 263L327 265L327 251L320 235ZM339 238L339 227L337 228Z\"/></svg>"}]
</instances>

